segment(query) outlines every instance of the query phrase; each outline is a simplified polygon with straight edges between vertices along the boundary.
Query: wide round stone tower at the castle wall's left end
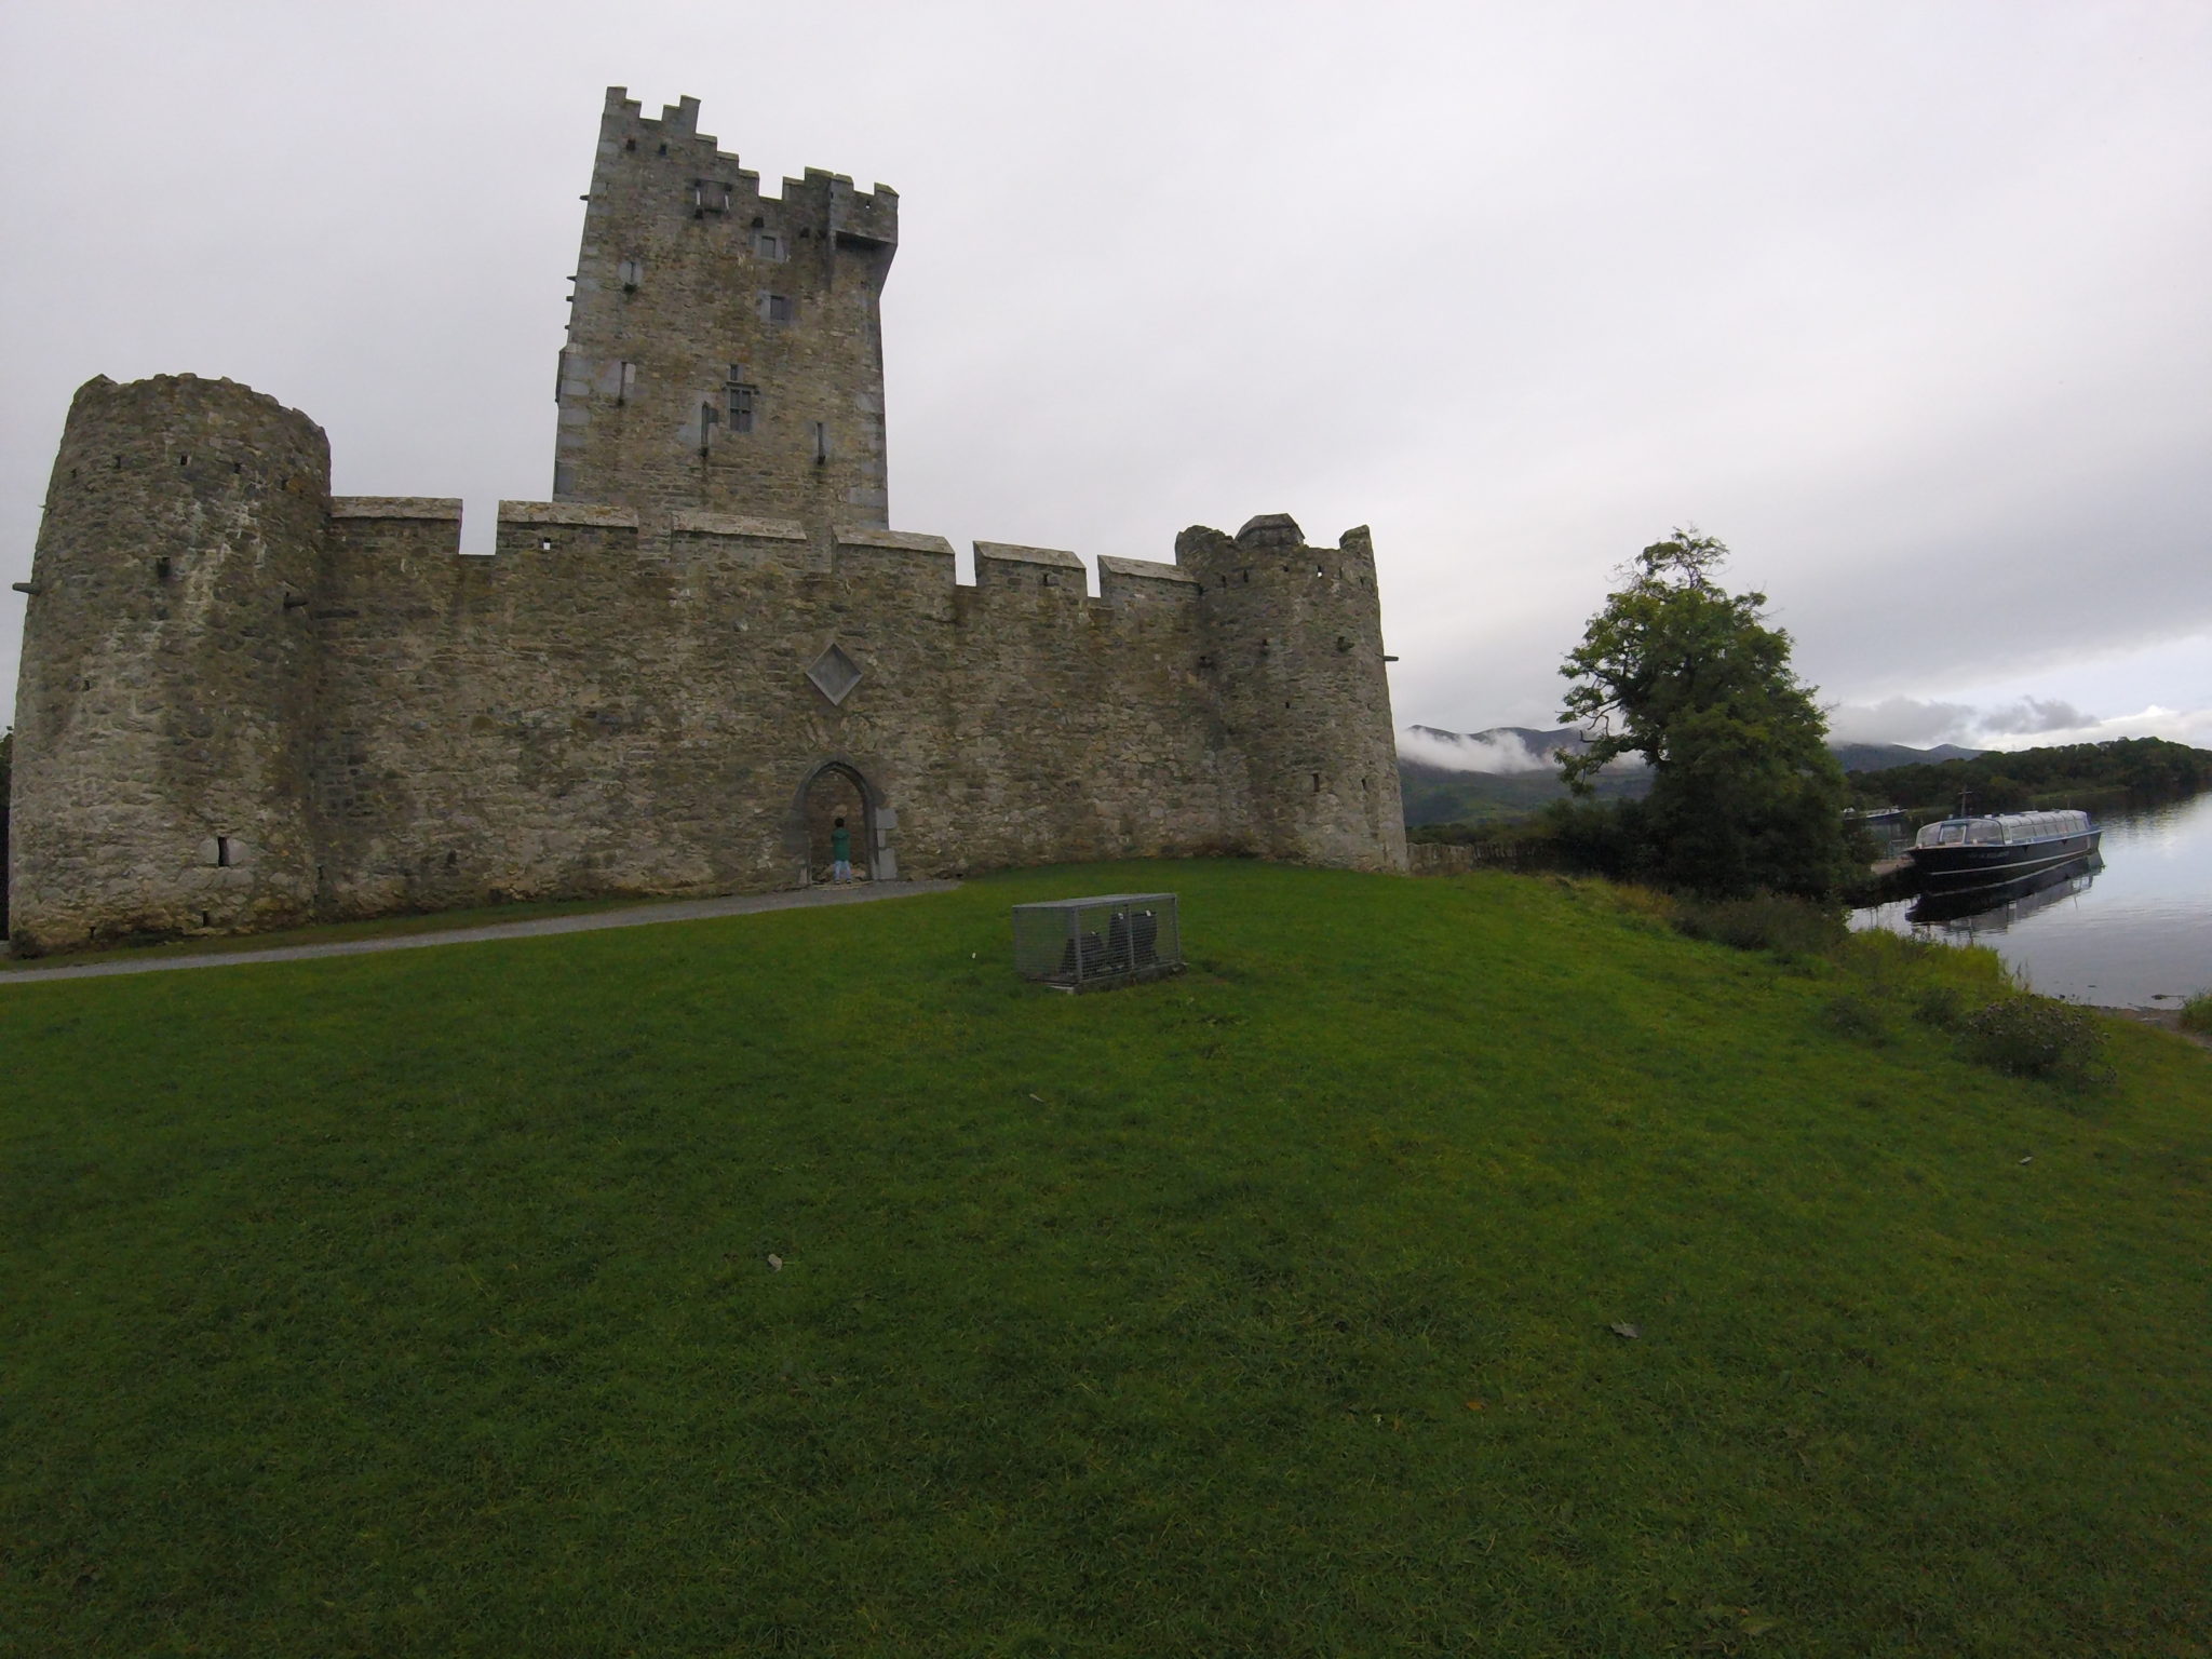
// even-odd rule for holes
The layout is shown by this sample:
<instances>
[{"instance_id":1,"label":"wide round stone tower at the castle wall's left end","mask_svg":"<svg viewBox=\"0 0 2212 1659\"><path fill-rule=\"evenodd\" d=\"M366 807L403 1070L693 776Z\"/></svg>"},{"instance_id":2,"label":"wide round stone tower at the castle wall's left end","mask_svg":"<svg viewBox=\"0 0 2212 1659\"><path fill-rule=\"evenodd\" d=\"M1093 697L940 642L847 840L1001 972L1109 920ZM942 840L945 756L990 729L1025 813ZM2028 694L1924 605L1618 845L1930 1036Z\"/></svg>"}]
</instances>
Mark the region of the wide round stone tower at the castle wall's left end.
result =
<instances>
[{"instance_id":1,"label":"wide round stone tower at the castle wall's left end","mask_svg":"<svg viewBox=\"0 0 2212 1659\"><path fill-rule=\"evenodd\" d=\"M330 442L232 380L77 389L15 692L18 949L314 909L307 708Z\"/></svg>"}]
</instances>

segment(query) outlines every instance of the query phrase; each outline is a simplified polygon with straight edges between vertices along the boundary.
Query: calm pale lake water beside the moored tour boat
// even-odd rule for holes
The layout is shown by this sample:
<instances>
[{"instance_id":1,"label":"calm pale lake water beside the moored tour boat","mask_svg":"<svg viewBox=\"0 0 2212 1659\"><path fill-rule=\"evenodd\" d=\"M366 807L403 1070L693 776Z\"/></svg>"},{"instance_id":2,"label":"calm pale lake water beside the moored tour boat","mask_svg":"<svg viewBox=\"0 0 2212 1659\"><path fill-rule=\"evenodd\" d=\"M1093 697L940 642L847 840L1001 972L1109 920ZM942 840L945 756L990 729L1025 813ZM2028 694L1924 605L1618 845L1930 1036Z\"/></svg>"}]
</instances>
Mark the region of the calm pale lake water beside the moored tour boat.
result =
<instances>
[{"instance_id":1,"label":"calm pale lake water beside the moored tour boat","mask_svg":"<svg viewBox=\"0 0 2212 1659\"><path fill-rule=\"evenodd\" d=\"M2212 991L2212 794L2095 814L2104 867L2053 872L2042 891L2000 889L1986 909L1913 920L1918 900L1856 911L1851 927L1989 945L2044 995L2172 1009Z\"/></svg>"}]
</instances>

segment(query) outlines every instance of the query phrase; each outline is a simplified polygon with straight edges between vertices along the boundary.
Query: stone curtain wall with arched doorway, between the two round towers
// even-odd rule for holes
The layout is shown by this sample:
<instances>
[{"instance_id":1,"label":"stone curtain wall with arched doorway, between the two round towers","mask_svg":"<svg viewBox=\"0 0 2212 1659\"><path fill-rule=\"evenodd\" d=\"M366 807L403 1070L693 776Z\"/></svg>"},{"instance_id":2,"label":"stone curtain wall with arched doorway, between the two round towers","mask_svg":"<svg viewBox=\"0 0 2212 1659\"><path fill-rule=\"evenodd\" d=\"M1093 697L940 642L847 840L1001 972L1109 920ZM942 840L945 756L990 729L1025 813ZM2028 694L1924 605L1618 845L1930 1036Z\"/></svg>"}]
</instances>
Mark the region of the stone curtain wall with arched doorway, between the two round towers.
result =
<instances>
[{"instance_id":1,"label":"stone curtain wall with arched doorway, between the two round towers","mask_svg":"<svg viewBox=\"0 0 2212 1659\"><path fill-rule=\"evenodd\" d=\"M509 502L498 555L465 560L449 504L334 502L332 914L801 885L803 792L834 761L909 876L1250 845L1172 566L1110 597L1071 555L1048 566L1071 584L967 588L938 538L847 531L814 571L790 533L653 557L628 518ZM860 672L843 701L807 679L830 646Z\"/></svg>"}]
</instances>

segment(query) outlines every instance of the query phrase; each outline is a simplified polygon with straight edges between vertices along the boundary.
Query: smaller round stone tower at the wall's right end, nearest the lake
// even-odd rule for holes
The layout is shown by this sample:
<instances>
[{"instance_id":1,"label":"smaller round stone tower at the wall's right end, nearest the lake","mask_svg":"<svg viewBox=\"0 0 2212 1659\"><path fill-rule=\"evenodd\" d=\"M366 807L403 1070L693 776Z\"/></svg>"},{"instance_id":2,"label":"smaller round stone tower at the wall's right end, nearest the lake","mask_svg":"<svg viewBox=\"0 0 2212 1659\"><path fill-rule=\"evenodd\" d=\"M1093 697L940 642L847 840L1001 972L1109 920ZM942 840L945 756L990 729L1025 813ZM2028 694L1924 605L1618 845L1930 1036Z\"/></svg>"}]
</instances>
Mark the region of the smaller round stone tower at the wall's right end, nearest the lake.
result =
<instances>
[{"instance_id":1,"label":"smaller round stone tower at the wall's right end, nearest the lake","mask_svg":"<svg viewBox=\"0 0 2212 1659\"><path fill-rule=\"evenodd\" d=\"M1265 513L1234 538L1183 531L1175 562L1201 584L1203 672L1248 759L1254 852L1405 869L1367 529L1316 549L1287 513Z\"/></svg>"}]
</instances>

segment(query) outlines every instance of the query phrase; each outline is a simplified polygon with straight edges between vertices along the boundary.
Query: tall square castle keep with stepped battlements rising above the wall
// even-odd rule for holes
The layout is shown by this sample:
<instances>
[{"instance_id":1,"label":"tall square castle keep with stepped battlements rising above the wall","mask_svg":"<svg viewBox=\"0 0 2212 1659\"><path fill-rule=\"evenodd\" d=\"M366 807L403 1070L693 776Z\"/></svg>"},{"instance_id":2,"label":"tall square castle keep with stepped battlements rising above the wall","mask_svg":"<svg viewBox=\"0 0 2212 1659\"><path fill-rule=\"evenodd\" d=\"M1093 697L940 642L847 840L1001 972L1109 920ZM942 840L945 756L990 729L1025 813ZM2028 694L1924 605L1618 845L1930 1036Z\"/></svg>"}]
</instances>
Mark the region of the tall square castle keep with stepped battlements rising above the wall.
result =
<instances>
[{"instance_id":1,"label":"tall square castle keep with stepped battlements rising above the wall","mask_svg":"<svg viewBox=\"0 0 2212 1659\"><path fill-rule=\"evenodd\" d=\"M781 197L606 93L560 358L553 498L887 524L883 323L898 197L807 168Z\"/></svg>"}]
</instances>

